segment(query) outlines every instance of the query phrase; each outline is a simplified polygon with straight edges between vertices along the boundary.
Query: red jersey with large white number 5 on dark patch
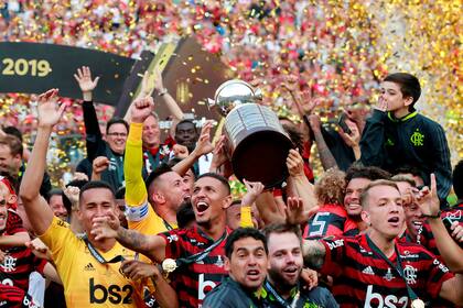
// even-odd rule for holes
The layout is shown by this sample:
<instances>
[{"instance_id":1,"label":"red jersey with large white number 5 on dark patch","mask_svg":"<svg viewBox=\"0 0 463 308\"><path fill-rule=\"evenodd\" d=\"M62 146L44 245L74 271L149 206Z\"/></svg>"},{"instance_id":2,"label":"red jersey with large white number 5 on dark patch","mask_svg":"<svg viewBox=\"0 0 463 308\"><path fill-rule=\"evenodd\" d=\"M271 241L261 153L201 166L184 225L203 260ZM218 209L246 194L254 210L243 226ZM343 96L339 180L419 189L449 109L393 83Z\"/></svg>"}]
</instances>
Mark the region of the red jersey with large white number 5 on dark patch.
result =
<instances>
[{"instance_id":1,"label":"red jersey with large white number 5 on dark patch","mask_svg":"<svg viewBox=\"0 0 463 308\"><path fill-rule=\"evenodd\" d=\"M320 239L331 235L358 234L357 224L348 218L347 211L340 205L324 205L309 220L304 238Z\"/></svg>"}]
</instances>

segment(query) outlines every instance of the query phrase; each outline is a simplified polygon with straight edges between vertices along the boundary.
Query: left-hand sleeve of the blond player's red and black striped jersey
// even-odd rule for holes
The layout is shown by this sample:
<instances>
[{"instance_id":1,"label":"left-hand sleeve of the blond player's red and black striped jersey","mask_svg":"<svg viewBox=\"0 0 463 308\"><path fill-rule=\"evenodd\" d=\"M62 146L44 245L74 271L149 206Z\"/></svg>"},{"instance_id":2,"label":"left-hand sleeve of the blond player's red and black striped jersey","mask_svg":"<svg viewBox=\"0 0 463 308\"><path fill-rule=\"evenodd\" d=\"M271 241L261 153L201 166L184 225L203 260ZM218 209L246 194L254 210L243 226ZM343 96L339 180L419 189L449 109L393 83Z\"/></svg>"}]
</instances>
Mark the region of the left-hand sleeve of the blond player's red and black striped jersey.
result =
<instances>
[{"instance_id":1,"label":"left-hand sleeve of the blond player's red and black striped jersey","mask_svg":"<svg viewBox=\"0 0 463 308\"><path fill-rule=\"evenodd\" d=\"M343 261L345 255L345 239L334 237L323 239L320 242L325 246L325 257L321 270L322 274L337 277L343 272Z\"/></svg>"}]
</instances>

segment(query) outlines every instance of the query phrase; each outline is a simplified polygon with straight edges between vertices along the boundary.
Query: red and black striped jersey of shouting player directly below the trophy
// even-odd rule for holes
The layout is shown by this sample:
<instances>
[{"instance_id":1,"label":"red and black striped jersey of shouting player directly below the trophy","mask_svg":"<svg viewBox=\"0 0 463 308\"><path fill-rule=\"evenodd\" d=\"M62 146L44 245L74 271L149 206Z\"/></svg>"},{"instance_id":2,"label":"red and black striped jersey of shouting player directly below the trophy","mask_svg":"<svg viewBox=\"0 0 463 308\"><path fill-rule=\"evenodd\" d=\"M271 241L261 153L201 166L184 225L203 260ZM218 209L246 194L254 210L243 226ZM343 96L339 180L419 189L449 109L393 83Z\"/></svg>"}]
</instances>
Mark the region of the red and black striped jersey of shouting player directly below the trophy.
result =
<instances>
[{"instance_id":1,"label":"red and black striped jersey of shouting player directly below the trophy","mask_svg":"<svg viewBox=\"0 0 463 308\"><path fill-rule=\"evenodd\" d=\"M227 229L229 234L230 230ZM196 226L160 233L165 239L165 257L189 257L214 243ZM201 307L206 294L228 274L224 268L225 242L214 248L202 261L177 268L170 278L179 295L180 307Z\"/></svg>"}]
</instances>

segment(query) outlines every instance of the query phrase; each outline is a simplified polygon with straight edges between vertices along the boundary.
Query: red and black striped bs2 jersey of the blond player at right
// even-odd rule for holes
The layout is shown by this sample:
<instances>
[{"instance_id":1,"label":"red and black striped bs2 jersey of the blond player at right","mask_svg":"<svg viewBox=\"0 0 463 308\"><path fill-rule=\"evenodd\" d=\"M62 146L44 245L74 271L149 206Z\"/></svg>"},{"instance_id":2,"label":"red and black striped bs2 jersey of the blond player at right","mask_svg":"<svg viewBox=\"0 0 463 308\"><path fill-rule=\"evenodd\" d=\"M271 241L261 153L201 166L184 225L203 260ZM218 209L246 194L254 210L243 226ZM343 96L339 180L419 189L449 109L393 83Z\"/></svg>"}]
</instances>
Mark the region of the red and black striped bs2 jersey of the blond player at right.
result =
<instances>
[{"instance_id":1,"label":"red and black striped bs2 jersey of the blond player at right","mask_svg":"<svg viewBox=\"0 0 463 308\"><path fill-rule=\"evenodd\" d=\"M326 250L321 272L334 277L341 307L409 307L405 279L369 248L365 234L321 242ZM396 246L409 286L424 301L437 298L453 277L449 268L421 245L396 241ZM396 264L396 253L389 260Z\"/></svg>"}]
</instances>

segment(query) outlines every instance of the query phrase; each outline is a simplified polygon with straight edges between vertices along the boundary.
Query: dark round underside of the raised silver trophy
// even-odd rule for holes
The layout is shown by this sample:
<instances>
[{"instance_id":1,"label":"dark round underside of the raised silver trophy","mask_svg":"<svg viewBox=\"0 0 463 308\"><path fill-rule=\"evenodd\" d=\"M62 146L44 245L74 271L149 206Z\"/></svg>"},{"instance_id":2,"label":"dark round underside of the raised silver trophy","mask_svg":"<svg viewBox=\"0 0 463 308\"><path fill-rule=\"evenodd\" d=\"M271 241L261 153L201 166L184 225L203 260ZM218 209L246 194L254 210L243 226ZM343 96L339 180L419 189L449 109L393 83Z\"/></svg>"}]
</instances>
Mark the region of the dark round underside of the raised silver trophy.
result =
<instances>
[{"instance_id":1,"label":"dark round underside of the raised silver trophy","mask_svg":"<svg viewBox=\"0 0 463 308\"><path fill-rule=\"evenodd\" d=\"M266 188L273 188L288 177L287 157L292 148L291 140L284 134L265 130L251 133L239 142L232 156L235 176L243 182L260 182Z\"/></svg>"}]
</instances>

